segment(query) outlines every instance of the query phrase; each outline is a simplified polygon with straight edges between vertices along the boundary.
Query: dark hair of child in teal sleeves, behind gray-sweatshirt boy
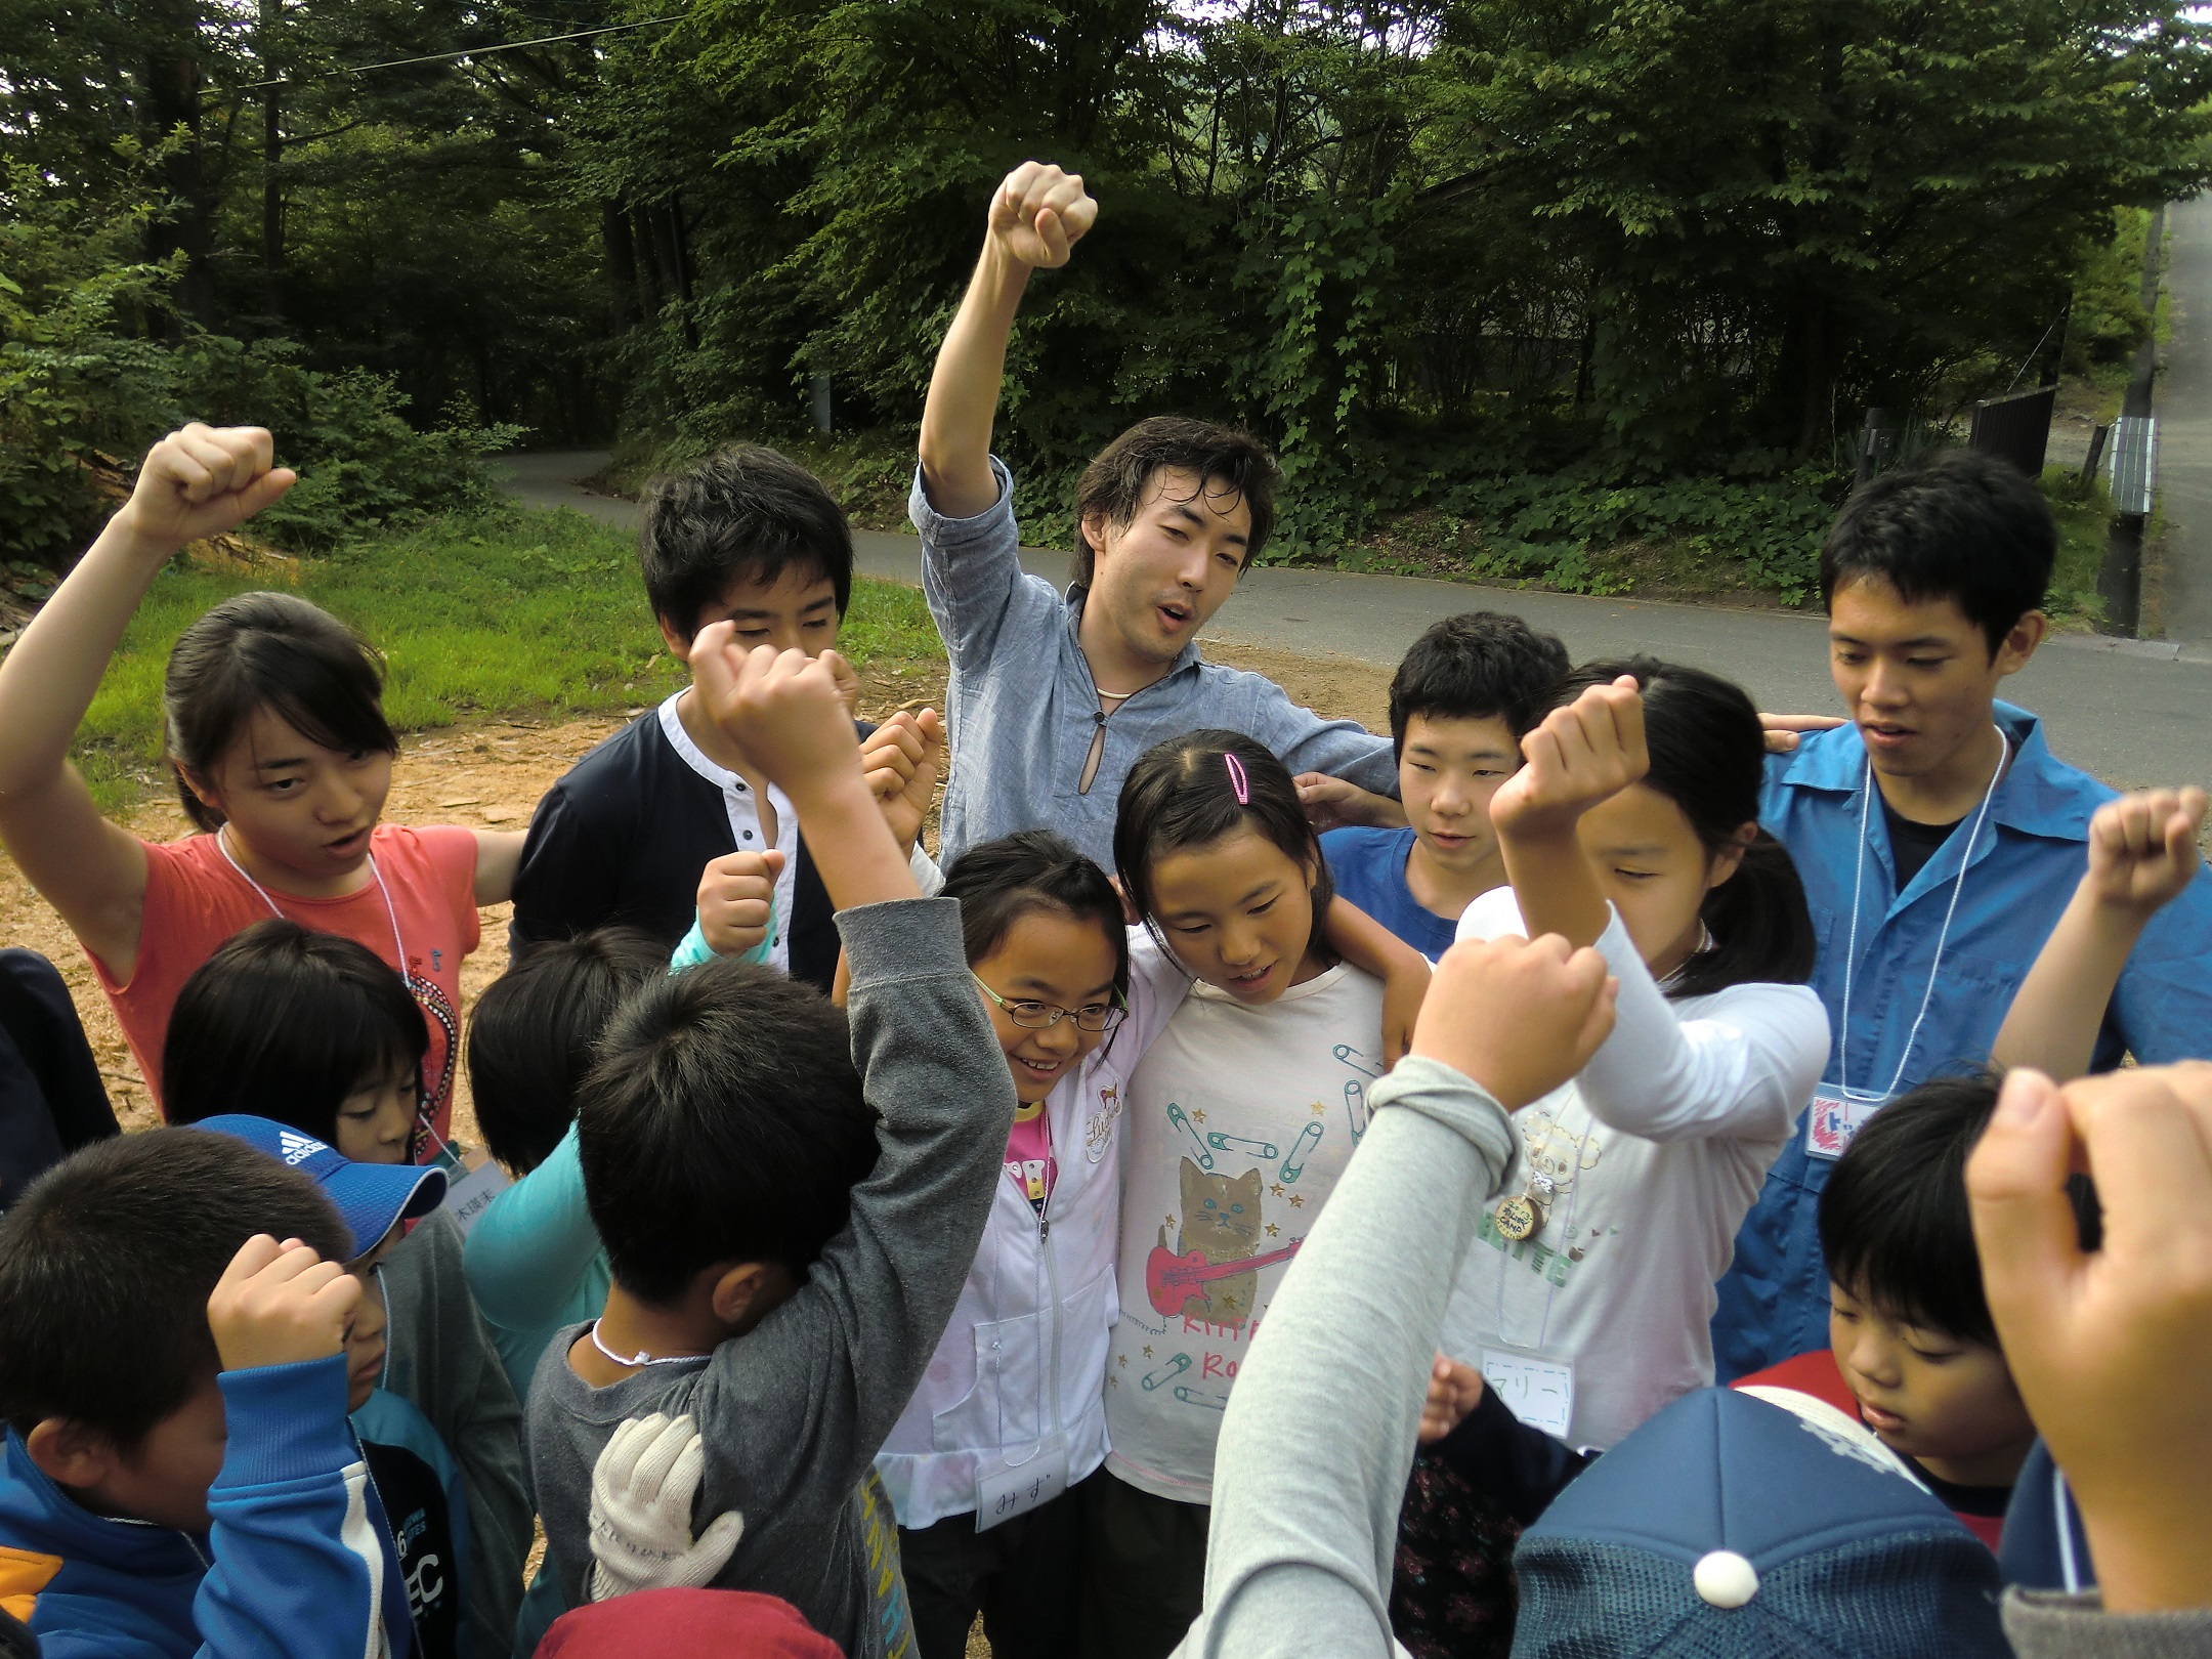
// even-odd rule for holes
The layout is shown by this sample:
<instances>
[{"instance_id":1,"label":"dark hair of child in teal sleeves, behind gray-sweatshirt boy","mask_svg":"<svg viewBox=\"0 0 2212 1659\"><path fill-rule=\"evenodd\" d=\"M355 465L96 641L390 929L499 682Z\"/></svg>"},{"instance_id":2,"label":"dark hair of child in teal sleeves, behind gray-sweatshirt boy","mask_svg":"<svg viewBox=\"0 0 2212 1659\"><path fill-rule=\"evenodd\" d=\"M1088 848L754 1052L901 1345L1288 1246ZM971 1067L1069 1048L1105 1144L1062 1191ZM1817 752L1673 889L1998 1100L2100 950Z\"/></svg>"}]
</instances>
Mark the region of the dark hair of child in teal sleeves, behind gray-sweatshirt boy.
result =
<instances>
[{"instance_id":1,"label":"dark hair of child in teal sleeves, behind gray-sweatshirt boy","mask_svg":"<svg viewBox=\"0 0 2212 1659\"><path fill-rule=\"evenodd\" d=\"M546 1161L575 1119L575 1088L606 1022L666 973L657 940L602 927L526 947L484 987L469 1015L469 1095L500 1164L526 1175Z\"/></svg>"}]
</instances>

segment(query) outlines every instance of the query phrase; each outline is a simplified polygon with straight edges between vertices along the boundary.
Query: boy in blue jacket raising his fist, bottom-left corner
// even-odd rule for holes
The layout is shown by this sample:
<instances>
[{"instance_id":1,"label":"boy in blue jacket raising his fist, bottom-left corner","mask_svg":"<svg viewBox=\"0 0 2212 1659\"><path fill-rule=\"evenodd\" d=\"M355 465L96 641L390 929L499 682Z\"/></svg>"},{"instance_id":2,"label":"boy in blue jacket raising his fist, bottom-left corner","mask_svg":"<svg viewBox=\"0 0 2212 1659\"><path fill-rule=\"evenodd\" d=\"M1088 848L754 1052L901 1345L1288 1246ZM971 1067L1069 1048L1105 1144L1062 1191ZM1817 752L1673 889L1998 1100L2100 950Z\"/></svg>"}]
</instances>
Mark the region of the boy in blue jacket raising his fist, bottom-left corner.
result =
<instances>
[{"instance_id":1,"label":"boy in blue jacket raising his fist, bottom-left corner","mask_svg":"<svg viewBox=\"0 0 2212 1659\"><path fill-rule=\"evenodd\" d=\"M314 1181L190 1128L88 1146L0 1221L0 1606L49 1659L409 1650L347 1254Z\"/></svg>"}]
</instances>

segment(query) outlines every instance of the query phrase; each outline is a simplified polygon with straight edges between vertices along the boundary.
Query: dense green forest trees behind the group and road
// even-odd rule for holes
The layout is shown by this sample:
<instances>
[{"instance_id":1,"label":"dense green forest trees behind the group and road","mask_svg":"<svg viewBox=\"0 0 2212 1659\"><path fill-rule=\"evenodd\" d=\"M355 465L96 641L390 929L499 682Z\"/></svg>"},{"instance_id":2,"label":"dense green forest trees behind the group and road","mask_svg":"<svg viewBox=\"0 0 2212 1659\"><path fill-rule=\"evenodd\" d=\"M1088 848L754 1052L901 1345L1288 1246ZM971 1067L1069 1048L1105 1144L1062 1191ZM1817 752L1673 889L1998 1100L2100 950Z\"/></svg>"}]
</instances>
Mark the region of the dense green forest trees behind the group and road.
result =
<instances>
[{"instance_id":1,"label":"dense green forest trees behind the group and road","mask_svg":"<svg viewBox=\"0 0 2212 1659\"><path fill-rule=\"evenodd\" d=\"M1175 409L1279 447L1274 557L1604 588L1663 542L1798 602L1865 407L2117 376L2141 210L2212 181L2212 42L2143 0L0 0L0 42L31 597L188 416L276 429L301 553L524 440L779 442L896 518L1044 157L1102 215L1009 363L1033 540Z\"/></svg>"}]
</instances>

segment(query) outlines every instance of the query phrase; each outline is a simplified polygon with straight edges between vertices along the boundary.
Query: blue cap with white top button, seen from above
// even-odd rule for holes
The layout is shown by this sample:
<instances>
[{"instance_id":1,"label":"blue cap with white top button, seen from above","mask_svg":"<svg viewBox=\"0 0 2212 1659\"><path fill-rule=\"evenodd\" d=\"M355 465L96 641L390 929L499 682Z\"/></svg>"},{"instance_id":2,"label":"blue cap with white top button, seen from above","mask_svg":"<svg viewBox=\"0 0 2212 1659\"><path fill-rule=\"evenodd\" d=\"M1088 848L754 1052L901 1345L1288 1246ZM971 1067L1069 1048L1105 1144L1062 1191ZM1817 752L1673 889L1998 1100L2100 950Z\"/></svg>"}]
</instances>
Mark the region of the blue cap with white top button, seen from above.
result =
<instances>
[{"instance_id":1,"label":"blue cap with white top button, seen from above","mask_svg":"<svg viewBox=\"0 0 2212 1659\"><path fill-rule=\"evenodd\" d=\"M1513 1659L2008 1659L1997 1562L1865 1427L1699 1389L1513 1551Z\"/></svg>"}]
</instances>

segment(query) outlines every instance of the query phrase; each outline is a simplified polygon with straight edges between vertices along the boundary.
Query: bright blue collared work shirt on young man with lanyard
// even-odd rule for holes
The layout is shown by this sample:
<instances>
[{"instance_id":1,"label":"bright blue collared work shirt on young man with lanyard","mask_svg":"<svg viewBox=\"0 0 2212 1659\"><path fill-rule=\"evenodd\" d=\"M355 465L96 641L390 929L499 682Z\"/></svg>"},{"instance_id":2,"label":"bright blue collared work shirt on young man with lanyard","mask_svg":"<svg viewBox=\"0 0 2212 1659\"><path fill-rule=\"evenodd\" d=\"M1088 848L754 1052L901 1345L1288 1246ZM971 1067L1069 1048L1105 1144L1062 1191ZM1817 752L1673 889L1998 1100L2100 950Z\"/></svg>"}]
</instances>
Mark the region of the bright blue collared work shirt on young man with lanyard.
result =
<instances>
[{"instance_id":1,"label":"bright blue collared work shirt on young man with lanyard","mask_svg":"<svg viewBox=\"0 0 2212 1659\"><path fill-rule=\"evenodd\" d=\"M1880 801L1867 812L1865 891L1851 1026L1843 1026L1843 962L1851 938L1854 856L1860 852L1860 787L1867 748L1856 726L1805 739L1796 754L1767 757L1761 823L1790 847L1812 907L1820 956L1814 991L1834 1037L1823 1082L1843 1082L1849 1053L1854 1093L1902 1093L1927 1077L1989 1057L2013 993L2042 951L2088 867L2088 821L2115 792L2059 761L2033 714L1995 706L2015 759L1975 836L1942 973L1920 1037L1907 1033L1929 989L1944 909L1966 856L1973 814L1898 894L1896 858ZM1849 1044L1849 1048L1845 1048ZM2099 1071L2132 1053L2143 1064L2212 1055L2212 872L2161 909L2119 978L2097 1040ZM1902 1066L1902 1075L1900 1075ZM1805 1150L1805 1126L1767 1175L1736 1234L1736 1261L1721 1279L1712 1347L1723 1380L1827 1347L1827 1265L1818 1201L1832 1161Z\"/></svg>"}]
</instances>

